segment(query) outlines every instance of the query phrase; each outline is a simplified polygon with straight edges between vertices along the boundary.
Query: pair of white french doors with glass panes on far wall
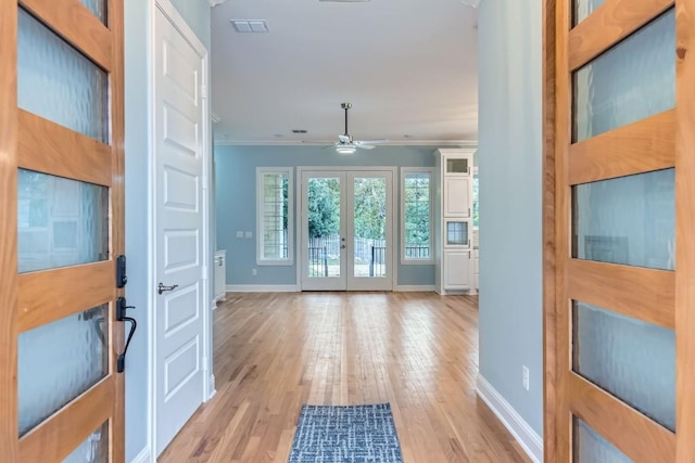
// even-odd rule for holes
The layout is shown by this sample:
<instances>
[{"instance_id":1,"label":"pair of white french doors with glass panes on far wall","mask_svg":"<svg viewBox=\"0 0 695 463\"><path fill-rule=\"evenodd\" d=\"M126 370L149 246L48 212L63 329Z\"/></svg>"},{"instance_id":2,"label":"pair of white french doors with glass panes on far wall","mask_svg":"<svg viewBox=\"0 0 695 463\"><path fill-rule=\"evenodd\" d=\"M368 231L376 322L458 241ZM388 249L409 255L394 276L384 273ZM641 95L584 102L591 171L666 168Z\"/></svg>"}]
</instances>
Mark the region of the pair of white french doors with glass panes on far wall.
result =
<instances>
[{"instance_id":1,"label":"pair of white french doors with glass panes on far wall","mask_svg":"<svg viewBox=\"0 0 695 463\"><path fill-rule=\"evenodd\" d=\"M393 288L393 170L302 170L303 291Z\"/></svg>"}]
</instances>

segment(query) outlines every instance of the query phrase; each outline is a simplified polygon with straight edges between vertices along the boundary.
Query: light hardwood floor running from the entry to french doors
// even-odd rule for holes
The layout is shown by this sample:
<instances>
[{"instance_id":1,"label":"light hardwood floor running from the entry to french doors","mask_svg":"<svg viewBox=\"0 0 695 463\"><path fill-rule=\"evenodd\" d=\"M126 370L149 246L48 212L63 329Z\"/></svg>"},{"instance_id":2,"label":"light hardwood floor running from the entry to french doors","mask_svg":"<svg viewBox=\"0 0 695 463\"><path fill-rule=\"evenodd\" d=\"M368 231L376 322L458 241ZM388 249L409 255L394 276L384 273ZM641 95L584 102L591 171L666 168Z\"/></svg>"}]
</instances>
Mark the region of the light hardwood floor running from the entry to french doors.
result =
<instances>
[{"instance_id":1,"label":"light hardwood floor running from the entry to french doors","mask_svg":"<svg viewBox=\"0 0 695 463\"><path fill-rule=\"evenodd\" d=\"M217 395L160 462L287 462L303 403L390 402L404 461L528 462L476 397L478 298L228 294Z\"/></svg>"}]
</instances>

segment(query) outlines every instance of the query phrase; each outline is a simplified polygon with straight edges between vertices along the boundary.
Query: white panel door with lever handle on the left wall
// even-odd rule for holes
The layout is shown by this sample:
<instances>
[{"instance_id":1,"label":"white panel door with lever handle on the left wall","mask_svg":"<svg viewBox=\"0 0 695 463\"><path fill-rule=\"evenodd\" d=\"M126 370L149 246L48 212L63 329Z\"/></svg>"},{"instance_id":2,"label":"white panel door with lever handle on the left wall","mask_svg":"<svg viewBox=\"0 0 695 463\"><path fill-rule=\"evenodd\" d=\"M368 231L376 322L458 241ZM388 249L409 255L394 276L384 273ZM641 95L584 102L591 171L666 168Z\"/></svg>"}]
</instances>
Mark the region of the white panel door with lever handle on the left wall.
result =
<instances>
[{"instance_id":1,"label":"white panel door with lever handle on the left wall","mask_svg":"<svg viewBox=\"0 0 695 463\"><path fill-rule=\"evenodd\" d=\"M204 56L155 20L155 416L159 455L204 400ZM144 231L143 231L144 233Z\"/></svg>"}]
</instances>

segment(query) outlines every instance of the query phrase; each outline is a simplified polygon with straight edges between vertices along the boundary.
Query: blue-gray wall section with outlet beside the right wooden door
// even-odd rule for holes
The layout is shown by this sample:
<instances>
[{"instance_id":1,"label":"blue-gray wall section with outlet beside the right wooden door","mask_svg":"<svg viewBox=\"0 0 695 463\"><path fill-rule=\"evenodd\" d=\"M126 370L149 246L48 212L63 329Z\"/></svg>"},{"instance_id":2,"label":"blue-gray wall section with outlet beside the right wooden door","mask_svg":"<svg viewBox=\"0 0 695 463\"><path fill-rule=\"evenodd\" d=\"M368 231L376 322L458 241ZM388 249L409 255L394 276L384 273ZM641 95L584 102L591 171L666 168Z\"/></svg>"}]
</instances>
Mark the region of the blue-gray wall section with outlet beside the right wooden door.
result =
<instances>
[{"instance_id":1,"label":"blue-gray wall section with outlet beside the right wooden door","mask_svg":"<svg viewBox=\"0 0 695 463\"><path fill-rule=\"evenodd\" d=\"M543 432L542 3L479 9L480 374ZM530 390L521 366L530 369Z\"/></svg>"}]
</instances>

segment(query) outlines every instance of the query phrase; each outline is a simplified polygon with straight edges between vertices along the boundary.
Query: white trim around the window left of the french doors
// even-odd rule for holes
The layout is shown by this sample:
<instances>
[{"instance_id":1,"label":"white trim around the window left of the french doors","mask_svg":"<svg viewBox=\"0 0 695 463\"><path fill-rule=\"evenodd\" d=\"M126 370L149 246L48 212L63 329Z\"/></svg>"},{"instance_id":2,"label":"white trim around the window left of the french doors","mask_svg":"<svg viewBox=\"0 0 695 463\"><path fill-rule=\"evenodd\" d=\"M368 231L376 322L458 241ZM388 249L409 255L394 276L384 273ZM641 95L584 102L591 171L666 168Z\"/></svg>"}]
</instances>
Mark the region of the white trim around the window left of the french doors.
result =
<instances>
[{"instance_id":1,"label":"white trim around the window left of the french doors","mask_svg":"<svg viewBox=\"0 0 695 463\"><path fill-rule=\"evenodd\" d=\"M263 258L263 178L268 173L286 175L287 184L287 258ZM257 266L293 266L294 265L294 168L293 167L256 167L256 265Z\"/></svg>"}]
</instances>

